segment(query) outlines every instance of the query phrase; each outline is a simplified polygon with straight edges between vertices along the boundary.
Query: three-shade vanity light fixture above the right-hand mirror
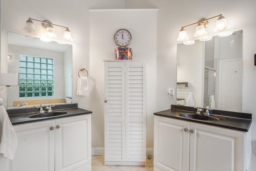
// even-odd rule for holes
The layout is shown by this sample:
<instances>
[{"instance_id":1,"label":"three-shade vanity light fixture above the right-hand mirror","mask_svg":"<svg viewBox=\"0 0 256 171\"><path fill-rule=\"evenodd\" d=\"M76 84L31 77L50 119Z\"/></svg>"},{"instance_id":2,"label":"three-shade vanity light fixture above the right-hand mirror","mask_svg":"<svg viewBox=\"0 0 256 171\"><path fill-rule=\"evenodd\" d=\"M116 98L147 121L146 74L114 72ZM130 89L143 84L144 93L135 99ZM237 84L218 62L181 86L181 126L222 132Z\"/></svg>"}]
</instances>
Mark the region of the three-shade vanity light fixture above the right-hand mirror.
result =
<instances>
[{"instance_id":1,"label":"three-shade vanity light fixture above the right-hand mirror","mask_svg":"<svg viewBox=\"0 0 256 171\"><path fill-rule=\"evenodd\" d=\"M216 17L218 17L218 20L217 20L216 26L213 30L214 32L222 32L222 31L228 30L230 28L230 26L228 26L228 24L227 24L227 20L224 18L224 16L222 16L222 14L220 14L218 16L211 17L211 18L207 18L207 19L202 18L198 22L181 27L177 41L188 40L188 35L187 35L185 28L188 26L192 26L192 25L197 25L194 37L200 37L199 40L201 40L201 41L211 40L212 36L204 37L208 34L206 32L205 28L208 26L209 20L216 18ZM224 34L222 34L222 35L224 35Z\"/></svg>"}]
</instances>

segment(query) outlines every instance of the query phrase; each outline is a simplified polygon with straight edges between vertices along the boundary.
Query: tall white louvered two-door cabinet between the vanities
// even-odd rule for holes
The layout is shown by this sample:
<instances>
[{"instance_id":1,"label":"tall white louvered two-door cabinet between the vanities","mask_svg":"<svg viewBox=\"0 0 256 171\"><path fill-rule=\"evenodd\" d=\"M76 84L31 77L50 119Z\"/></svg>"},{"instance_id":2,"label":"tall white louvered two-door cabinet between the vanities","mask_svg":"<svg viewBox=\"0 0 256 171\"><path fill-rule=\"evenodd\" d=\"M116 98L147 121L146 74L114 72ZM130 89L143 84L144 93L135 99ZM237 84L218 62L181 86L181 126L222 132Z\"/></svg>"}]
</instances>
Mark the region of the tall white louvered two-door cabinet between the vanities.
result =
<instances>
[{"instance_id":1,"label":"tall white louvered two-door cabinet between the vanities","mask_svg":"<svg viewBox=\"0 0 256 171\"><path fill-rule=\"evenodd\" d=\"M146 62L105 61L105 165L146 164Z\"/></svg>"}]
</instances>

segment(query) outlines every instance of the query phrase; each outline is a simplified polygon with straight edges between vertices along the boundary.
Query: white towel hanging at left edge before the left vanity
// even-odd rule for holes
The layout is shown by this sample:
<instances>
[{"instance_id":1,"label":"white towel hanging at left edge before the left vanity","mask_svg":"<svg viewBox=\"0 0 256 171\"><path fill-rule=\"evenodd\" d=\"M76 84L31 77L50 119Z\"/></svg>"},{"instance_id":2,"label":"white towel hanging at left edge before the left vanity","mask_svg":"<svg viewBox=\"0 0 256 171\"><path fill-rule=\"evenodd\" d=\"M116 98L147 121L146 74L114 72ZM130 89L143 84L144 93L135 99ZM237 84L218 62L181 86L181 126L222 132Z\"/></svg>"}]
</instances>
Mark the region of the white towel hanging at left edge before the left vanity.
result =
<instances>
[{"instance_id":1,"label":"white towel hanging at left edge before the left vanity","mask_svg":"<svg viewBox=\"0 0 256 171\"><path fill-rule=\"evenodd\" d=\"M1 100L0 100L1 101ZM4 106L0 105L0 153L13 160L17 136Z\"/></svg>"}]
</instances>

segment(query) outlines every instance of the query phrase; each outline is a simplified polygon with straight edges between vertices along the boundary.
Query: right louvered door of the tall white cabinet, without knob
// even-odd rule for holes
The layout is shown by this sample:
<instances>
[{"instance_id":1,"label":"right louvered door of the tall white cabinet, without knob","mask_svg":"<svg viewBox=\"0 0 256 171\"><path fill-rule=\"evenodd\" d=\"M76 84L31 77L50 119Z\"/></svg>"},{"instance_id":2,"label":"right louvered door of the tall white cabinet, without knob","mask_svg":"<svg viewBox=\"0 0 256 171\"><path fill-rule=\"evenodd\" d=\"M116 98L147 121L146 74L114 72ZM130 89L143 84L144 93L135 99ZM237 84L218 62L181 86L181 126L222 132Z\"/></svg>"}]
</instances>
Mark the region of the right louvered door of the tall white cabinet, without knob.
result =
<instances>
[{"instance_id":1,"label":"right louvered door of the tall white cabinet, without knob","mask_svg":"<svg viewBox=\"0 0 256 171\"><path fill-rule=\"evenodd\" d=\"M146 159L146 62L126 62L126 159Z\"/></svg>"}]
</instances>

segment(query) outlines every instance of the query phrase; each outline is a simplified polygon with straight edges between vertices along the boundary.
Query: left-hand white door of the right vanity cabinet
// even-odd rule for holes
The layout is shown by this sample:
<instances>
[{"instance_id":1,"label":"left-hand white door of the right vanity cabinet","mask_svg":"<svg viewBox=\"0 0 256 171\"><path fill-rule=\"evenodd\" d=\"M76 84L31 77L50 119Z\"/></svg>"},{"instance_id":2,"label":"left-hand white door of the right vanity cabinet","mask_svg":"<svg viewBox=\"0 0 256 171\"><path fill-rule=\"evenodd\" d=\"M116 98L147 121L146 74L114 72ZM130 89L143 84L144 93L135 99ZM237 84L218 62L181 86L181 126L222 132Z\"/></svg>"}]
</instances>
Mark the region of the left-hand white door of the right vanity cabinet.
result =
<instances>
[{"instance_id":1,"label":"left-hand white door of the right vanity cabinet","mask_svg":"<svg viewBox=\"0 0 256 171\"><path fill-rule=\"evenodd\" d=\"M189 122L154 116L154 170L189 170L189 129Z\"/></svg>"}]
</instances>

